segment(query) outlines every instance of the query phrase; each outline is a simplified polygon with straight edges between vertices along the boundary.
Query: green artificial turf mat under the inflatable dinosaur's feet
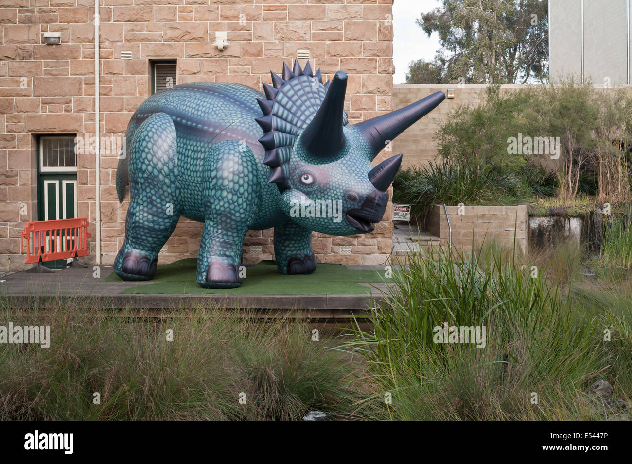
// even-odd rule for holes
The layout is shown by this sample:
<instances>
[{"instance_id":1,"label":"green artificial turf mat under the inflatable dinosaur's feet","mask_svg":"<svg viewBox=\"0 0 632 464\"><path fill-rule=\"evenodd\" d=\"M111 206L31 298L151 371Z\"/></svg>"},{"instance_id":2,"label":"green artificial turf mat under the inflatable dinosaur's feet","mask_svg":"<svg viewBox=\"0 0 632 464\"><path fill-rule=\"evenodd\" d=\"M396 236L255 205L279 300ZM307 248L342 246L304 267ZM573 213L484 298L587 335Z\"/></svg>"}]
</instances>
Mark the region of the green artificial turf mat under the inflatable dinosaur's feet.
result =
<instances>
[{"instance_id":1,"label":"green artificial turf mat under the inflatable dinosaur's feet","mask_svg":"<svg viewBox=\"0 0 632 464\"><path fill-rule=\"evenodd\" d=\"M309 275L283 275L274 261L260 261L246 268L246 277L236 289L203 289L195 282L197 258L186 258L167 265L159 265L149 285L137 285L121 294L351 294L362 295L370 287L360 283L388 283L382 270L355 270L346 266L319 264ZM103 282L125 282L111 273Z\"/></svg>"}]
</instances>

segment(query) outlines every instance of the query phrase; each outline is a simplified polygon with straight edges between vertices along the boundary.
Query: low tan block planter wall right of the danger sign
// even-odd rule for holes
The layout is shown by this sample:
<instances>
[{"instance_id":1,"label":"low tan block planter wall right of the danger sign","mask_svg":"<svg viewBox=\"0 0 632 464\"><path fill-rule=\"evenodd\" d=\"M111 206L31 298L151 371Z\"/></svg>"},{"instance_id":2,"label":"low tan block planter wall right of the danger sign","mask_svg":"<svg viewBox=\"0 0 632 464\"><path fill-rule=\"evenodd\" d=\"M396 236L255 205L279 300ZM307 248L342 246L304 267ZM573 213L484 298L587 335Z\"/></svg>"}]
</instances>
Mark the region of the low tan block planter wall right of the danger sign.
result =
<instances>
[{"instance_id":1,"label":"low tan block planter wall right of the danger sign","mask_svg":"<svg viewBox=\"0 0 632 464\"><path fill-rule=\"evenodd\" d=\"M513 247L523 253L528 251L528 206L465 206L459 214L458 206L447 206L447 215L452 227L452 246L465 253L471 253L472 241L475 250L483 243L494 240L503 247ZM434 205L428 211L422 227L441 238L441 245L447 246L450 227L443 205Z\"/></svg>"}]
</instances>

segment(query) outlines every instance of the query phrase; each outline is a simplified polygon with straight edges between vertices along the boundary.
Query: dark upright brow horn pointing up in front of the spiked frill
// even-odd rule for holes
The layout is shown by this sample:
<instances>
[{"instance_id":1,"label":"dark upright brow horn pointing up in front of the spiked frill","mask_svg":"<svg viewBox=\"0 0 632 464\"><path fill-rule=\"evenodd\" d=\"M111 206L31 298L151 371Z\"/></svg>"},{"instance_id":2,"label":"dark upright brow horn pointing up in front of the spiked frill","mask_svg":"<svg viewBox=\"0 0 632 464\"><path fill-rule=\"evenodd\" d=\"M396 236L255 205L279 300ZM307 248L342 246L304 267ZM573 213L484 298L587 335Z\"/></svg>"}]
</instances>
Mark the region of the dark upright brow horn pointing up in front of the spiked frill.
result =
<instances>
[{"instance_id":1,"label":"dark upright brow horn pointing up in front of the spiked frill","mask_svg":"<svg viewBox=\"0 0 632 464\"><path fill-rule=\"evenodd\" d=\"M312 121L303 131L303 145L315 156L331 157L344 148L343 109L347 73L338 71Z\"/></svg>"}]
</instances>

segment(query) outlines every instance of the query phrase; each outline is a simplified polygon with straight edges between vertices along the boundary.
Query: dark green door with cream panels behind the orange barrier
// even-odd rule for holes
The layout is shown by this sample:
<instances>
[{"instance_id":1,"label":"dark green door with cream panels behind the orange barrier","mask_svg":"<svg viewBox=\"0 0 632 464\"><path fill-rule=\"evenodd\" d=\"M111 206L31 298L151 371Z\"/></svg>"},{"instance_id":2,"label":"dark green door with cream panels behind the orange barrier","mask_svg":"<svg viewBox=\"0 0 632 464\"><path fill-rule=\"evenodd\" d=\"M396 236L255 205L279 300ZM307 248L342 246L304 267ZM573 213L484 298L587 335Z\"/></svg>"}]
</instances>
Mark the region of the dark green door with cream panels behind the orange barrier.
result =
<instances>
[{"instance_id":1,"label":"dark green door with cream panels behind the orange barrier","mask_svg":"<svg viewBox=\"0 0 632 464\"><path fill-rule=\"evenodd\" d=\"M77 217L77 175L74 136L43 136L39 143L37 219L51 221ZM54 244L59 249L61 244ZM64 269L66 259L42 263Z\"/></svg>"}]
</instances>

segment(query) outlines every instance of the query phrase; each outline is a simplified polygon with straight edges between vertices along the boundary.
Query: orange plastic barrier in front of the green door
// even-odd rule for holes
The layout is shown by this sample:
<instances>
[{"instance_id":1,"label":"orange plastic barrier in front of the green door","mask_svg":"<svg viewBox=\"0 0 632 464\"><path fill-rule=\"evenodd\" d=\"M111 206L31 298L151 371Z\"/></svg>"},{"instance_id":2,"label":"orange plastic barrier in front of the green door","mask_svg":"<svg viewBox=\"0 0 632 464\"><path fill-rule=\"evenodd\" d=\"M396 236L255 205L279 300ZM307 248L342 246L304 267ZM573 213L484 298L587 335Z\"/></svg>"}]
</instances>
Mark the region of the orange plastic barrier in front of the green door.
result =
<instances>
[{"instance_id":1,"label":"orange plastic barrier in front of the green door","mask_svg":"<svg viewBox=\"0 0 632 464\"><path fill-rule=\"evenodd\" d=\"M28 222L20 237L20 249L27 245L25 263L88 256L87 218Z\"/></svg>"}]
</instances>

